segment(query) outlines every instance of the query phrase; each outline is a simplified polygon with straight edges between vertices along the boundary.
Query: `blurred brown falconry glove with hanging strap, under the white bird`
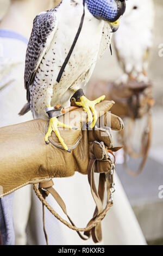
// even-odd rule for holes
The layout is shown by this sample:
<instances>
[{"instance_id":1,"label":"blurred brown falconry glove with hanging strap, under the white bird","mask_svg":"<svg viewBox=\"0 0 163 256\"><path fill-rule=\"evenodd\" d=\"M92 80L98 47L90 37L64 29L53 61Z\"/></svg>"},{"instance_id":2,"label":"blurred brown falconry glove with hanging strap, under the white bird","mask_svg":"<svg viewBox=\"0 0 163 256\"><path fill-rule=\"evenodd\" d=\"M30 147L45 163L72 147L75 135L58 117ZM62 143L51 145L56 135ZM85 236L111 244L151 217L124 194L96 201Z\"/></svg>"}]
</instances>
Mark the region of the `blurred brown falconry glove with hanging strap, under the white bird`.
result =
<instances>
[{"instance_id":1,"label":"blurred brown falconry glove with hanging strap, under the white bird","mask_svg":"<svg viewBox=\"0 0 163 256\"><path fill-rule=\"evenodd\" d=\"M93 88L96 87L96 90ZM154 105L152 97L151 82L137 82L136 80L129 80L128 83L109 83L106 81L97 81L90 84L88 95L90 99L96 97L96 92L106 94L106 100L114 100L115 105L111 112L121 118L128 118L129 123L126 127L126 132L120 132L121 143L124 147L124 167L130 175L139 175L145 166L148 151L152 139L152 113L151 108ZM131 147L130 139L132 138L132 131L134 130L135 121L147 115L147 124L142 134L141 151L135 153ZM139 170L133 172L127 166L127 154L137 159L142 157Z\"/></svg>"}]
</instances>

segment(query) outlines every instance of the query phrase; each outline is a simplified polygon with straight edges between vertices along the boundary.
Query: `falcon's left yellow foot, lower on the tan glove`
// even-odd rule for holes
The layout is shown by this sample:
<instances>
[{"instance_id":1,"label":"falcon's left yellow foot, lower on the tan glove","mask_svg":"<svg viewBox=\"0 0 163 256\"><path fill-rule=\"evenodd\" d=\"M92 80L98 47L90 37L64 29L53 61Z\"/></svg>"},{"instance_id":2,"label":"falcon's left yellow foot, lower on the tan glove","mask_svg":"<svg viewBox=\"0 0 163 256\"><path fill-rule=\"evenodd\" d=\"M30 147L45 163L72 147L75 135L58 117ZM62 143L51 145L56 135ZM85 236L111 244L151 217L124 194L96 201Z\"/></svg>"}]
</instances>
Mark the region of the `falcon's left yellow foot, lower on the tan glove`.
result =
<instances>
[{"instance_id":1,"label":"falcon's left yellow foot, lower on the tan glove","mask_svg":"<svg viewBox=\"0 0 163 256\"><path fill-rule=\"evenodd\" d=\"M64 147L64 149L67 152L71 153L71 150L68 149L67 145L64 142L64 139L61 137L58 127L62 127L62 128L69 129L69 130L77 130L77 127L72 127L70 125L66 125L66 124L58 121L57 117L52 117L49 120L49 126L48 126L48 131L45 136L45 142L46 142L46 144L49 144L48 138L51 137L52 131L54 131L55 135L58 137L58 139L59 139L60 143L62 144L62 146Z\"/></svg>"}]
</instances>

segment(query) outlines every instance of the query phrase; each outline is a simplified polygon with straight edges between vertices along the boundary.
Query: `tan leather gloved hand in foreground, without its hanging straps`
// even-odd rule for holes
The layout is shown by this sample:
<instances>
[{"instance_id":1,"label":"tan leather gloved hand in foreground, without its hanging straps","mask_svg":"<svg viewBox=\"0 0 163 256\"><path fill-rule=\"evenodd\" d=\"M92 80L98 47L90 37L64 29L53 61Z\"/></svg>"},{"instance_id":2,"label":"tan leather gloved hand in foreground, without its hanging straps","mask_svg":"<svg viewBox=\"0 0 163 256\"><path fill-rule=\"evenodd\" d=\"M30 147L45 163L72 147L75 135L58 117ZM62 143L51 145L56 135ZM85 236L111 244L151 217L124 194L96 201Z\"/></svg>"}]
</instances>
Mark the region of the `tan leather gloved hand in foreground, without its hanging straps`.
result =
<instances>
[{"instance_id":1,"label":"tan leather gloved hand in foreground, without its hanging straps","mask_svg":"<svg viewBox=\"0 0 163 256\"><path fill-rule=\"evenodd\" d=\"M106 112L113 104L112 101L103 101L96 106L98 117L103 115L103 126L106 126ZM77 126L78 130L60 130L60 133L71 153L61 148L54 132L51 143L45 144L48 124L45 120L36 119L0 129L0 186L3 188L0 197L47 178L68 177L76 171L87 174L89 159L92 157L99 159L95 168L97 172L110 169L108 154L105 153L107 148L113 148L111 130L102 129L102 134L101 129L81 132L82 123L86 123L85 112L79 108L69 114L70 125ZM108 114L108 117L110 115L111 129L121 130L122 120L112 114ZM67 123L67 117L68 114L65 114L64 123Z\"/></svg>"}]
</instances>

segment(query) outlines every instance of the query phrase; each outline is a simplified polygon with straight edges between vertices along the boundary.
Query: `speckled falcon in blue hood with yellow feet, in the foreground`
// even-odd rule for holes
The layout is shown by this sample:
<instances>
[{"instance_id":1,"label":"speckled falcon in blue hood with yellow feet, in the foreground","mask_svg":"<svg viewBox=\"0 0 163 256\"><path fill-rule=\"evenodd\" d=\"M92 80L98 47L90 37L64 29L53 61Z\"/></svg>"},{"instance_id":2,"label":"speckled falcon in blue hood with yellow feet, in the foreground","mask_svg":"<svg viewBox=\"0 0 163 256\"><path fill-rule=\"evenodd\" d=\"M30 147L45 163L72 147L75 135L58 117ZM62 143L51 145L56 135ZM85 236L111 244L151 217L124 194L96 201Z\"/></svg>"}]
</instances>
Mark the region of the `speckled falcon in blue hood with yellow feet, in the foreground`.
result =
<instances>
[{"instance_id":1,"label":"speckled falcon in blue hood with yellow feet, in the foreground","mask_svg":"<svg viewBox=\"0 0 163 256\"><path fill-rule=\"evenodd\" d=\"M58 7L36 16L24 72L28 103L21 115L31 110L34 118L47 120L47 112L58 103L68 105L72 95L90 80L98 58L110 46L112 32L117 31L125 8L124 0L62 0ZM76 102L87 112L92 128L97 121L95 105L104 98L90 101L81 95L80 102ZM70 152L58 126L75 129L51 117L45 142L49 143L54 131Z\"/></svg>"}]
</instances>

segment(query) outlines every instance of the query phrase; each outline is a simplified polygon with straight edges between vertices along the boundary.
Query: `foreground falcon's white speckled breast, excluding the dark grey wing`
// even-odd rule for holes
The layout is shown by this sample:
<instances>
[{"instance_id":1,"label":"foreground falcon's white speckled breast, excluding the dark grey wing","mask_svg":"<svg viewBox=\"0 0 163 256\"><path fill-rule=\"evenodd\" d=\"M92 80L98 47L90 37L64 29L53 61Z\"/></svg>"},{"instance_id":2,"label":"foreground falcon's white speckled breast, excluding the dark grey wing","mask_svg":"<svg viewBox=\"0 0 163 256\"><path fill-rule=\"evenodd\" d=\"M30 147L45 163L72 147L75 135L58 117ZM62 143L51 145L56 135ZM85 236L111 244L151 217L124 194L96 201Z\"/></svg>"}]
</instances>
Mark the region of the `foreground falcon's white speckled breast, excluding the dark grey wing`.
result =
<instances>
[{"instance_id":1,"label":"foreground falcon's white speckled breast, excluding the dark grey wing","mask_svg":"<svg viewBox=\"0 0 163 256\"><path fill-rule=\"evenodd\" d=\"M36 66L34 82L29 86L34 118L46 119L47 105L55 106L57 103L63 107L70 105L70 97L74 90L81 88L83 83L86 84L89 81L98 57L101 57L110 45L109 24L95 19L85 8L82 32L60 83L56 82L60 68L78 31L82 14L82 1L79 1L76 7L71 1L64 1L55 12L57 20L55 33L48 36L48 41ZM41 61L42 58L43 61Z\"/></svg>"}]
</instances>

